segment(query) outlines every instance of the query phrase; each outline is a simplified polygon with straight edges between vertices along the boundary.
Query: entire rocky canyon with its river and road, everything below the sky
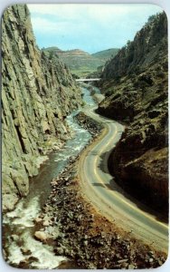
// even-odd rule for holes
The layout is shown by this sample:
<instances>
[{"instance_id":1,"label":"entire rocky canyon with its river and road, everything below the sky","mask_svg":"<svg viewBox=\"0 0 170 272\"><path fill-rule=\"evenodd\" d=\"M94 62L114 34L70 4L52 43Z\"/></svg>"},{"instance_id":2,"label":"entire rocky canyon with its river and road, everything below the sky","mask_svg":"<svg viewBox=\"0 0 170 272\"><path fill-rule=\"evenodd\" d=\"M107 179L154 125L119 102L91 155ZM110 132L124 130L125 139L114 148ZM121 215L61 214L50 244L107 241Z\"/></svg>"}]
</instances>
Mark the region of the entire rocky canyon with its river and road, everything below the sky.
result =
<instances>
[{"instance_id":1,"label":"entire rocky canyon with its river and road, everything below the sky","mask_svg":"<svg viewBox=\"0 0 170 272\"><path fill-rule=\"evenodd\" d=\"M93 65L90 74L84 63ZM82 74L99 78L78 83ZM167 79L164 12L149 17L121 49L89 54L58 44L40 50L27 5L5 10L2 204L9 265L165 263Z\"/></svg>"}]
</instances>

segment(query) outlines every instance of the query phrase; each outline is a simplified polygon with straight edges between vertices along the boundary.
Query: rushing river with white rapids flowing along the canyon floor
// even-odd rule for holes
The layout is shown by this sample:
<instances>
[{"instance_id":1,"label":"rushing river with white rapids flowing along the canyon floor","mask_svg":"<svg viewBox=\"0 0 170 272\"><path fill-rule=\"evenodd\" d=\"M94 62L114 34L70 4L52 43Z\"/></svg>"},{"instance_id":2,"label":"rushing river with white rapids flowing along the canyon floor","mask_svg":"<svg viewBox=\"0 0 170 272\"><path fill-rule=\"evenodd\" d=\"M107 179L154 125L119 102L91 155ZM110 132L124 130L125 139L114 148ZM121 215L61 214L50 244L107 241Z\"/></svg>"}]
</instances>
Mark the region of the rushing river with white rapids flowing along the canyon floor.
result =
<instances>
[{"instance_id":1,"label":"rushing river with white rapids flowing along the canyon floor","mask_svg":"<svg viewBox=\"0 0 170 272\"><path fill-rule=\"evenodd\" d=\"M90 91L85 87L81 90L86 105L94 106L95 102L90 96ZM8 255L7 262L11 266L17 267L25 261L25 250L26 257L30 257L32 266L36 268L52 269L66 260L66 257L55 256L52 246L44 245L33 238L35 230L33 219L37 218L50 194L52 179L56 178L69 163L70 158L76 156L90 141L89 131L80 128L73 119L78 112L72 112L67 117L67 122L74 131L74 137L66 141L60 151L52 151L49 160L42 164L39 174L30 180L28 196L18 202L14 211L4 216L4 245Z\"/></svg>"}]
</instances>

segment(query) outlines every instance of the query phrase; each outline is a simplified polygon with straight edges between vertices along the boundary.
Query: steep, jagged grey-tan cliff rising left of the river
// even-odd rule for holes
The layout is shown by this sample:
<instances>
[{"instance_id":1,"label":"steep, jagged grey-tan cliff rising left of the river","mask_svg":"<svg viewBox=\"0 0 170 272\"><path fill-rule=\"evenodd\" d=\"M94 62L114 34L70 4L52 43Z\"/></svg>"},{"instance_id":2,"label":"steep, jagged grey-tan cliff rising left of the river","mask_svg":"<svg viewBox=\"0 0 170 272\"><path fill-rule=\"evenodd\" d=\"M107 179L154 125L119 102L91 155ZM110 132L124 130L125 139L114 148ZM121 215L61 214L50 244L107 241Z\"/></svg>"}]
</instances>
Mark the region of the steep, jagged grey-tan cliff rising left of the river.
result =
<instances>
[{"instance_id":1,"label":"steep, jagged grey-tan cliff rising left of the river","mask_svg":"<svg viewBox=\"0 0 170 272\"><path fill-rule=\"evenodd\" d=\"M41 53L26 5L6 9L2 22L3 209L14 209L38 173L41 154L68 138L66 116L80 90L65 64Z\"/></svg>"}]
</instances>

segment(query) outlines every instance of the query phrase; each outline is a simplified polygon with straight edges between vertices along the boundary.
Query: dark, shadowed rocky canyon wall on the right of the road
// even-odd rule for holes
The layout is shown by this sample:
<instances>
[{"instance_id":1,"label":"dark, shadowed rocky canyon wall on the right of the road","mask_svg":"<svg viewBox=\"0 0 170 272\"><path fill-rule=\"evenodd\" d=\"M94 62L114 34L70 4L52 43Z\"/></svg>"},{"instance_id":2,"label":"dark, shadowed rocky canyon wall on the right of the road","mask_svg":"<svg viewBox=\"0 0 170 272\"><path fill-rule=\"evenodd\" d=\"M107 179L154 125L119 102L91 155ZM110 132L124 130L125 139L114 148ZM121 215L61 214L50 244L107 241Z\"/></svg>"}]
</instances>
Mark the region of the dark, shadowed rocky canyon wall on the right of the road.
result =
<instances>
[{"instance_id":1,"label":"dark, shadowed rocky canyon wall on the right of the road","mask_svg":"<svg viewBox=\"0 0 170 272\"><path fill-rule=\"evenodd\" d=\"M155 208L165 204L168 102L164 13L148 22L108 63L101 89L106 99L99 112L127 125L110 159L111 170L121 184L138 188L141 196L143 191Z\"/></svg>"}]
</instances>

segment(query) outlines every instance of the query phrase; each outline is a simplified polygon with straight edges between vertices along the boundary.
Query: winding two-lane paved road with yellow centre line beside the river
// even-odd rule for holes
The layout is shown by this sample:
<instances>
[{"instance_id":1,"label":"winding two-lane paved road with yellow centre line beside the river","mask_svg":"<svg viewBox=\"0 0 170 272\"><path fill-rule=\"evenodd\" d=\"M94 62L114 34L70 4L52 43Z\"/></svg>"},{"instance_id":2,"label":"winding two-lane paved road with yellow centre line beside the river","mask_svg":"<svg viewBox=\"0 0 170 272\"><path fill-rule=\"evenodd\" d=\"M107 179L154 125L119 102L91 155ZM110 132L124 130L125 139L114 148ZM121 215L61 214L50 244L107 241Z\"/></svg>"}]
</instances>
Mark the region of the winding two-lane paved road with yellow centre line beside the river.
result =
<instances>
[{"instance_id":1,"label":"winding two-lane paved road with yellow centre line beside the river","mask_svg":"<svg viewBox=\"0 0 170 272\"><path fill-rule=\"evenodd\" d=\"M156 217L140 209L140 203L134 202L115 183L109 174L109 154L119 141L124 127L117 121L101 117L93 112L94 107L83 112L99 123L104 124L104 131L98 142L94 142L80 157L79 176L85 196L99 212L118 227L142 239L146 244L167 252L168 226Z\"/></svg>"}]
</instances>

